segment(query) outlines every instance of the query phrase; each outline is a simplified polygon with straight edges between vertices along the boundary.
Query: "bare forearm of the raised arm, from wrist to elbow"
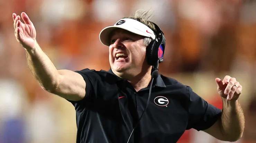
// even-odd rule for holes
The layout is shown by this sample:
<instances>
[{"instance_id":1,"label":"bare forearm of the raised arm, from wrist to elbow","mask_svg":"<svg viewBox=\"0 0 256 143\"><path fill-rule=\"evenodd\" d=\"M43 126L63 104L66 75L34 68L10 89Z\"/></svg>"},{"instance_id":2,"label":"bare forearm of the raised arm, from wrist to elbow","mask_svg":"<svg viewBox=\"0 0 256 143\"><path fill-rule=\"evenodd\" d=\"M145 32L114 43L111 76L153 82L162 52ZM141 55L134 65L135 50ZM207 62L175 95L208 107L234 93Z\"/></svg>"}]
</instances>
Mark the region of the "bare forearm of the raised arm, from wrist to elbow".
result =
<instances>
[{"instance_id":1,"label":"bare forearm of the raised arm, from wrist to elbow","mask_svg":"<svg viewBox=\"0 0 256 143\"><path fill-rule=\"evenodd\" d=\"M38 44L33 50L26 50L27 63L33 76L47 91L54 90L58 84L58 71Z\"/></svg>"}]
</instances>

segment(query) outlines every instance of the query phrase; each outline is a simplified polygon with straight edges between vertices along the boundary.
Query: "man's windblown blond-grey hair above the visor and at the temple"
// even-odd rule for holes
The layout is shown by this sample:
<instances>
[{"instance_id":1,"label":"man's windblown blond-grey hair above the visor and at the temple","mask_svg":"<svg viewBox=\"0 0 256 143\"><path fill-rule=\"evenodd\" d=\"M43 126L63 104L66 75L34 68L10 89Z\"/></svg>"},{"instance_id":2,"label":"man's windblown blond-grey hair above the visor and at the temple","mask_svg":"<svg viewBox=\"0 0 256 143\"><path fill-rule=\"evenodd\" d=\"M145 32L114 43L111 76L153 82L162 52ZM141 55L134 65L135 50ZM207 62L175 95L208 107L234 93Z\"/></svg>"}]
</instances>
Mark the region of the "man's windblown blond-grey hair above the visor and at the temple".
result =
<instances>
[{"instance_id":1,"label":"man's windblown blond-grey hair above the visor and at the temple","mask_svg":"<svg viewBox=\"0 0 256 143\"><path fill-rule=\"evenodd\" d=\"M147 25L151 30L156 31L155 25L150 22L149 20L152 19L152 14L150 14L150 10L137 10L134 15L129 17L124 17L129 19L137 20L145 25ZM144 39L144 45L148 46L149 43L152 41L151 38L145 37Z\"/></svg>"}]
</instances>

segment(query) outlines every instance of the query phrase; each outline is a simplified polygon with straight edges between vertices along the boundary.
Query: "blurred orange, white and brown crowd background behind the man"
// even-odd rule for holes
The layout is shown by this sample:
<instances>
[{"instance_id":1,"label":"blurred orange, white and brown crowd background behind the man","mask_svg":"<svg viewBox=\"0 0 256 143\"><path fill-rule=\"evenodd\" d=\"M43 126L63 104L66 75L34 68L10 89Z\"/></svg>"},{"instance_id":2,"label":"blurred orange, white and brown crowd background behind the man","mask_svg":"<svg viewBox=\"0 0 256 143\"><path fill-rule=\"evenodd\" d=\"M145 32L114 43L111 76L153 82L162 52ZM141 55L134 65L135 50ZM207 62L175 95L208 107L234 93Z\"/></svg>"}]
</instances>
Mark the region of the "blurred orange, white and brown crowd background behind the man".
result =
<instances>
[{"instance_id":1,"label":"blurred orange, white and brown crowd background behind the man","mask_svg":"<svg viewBox=\"0 0 256 143\"><path fill-rule=\"evenodd\" d=\"M256 143L256 1L253 0L0 0L0 143L74 143L73 105L44 91L16 41L12 13L26 12L37 41L57 69L108 70L100 31L137 9L152 10L164 31L159 72L222 108L215 78L236 77L246 127L237 143ZM179 143L221 143L194 129Z\"/></svg>"}]
</instances>

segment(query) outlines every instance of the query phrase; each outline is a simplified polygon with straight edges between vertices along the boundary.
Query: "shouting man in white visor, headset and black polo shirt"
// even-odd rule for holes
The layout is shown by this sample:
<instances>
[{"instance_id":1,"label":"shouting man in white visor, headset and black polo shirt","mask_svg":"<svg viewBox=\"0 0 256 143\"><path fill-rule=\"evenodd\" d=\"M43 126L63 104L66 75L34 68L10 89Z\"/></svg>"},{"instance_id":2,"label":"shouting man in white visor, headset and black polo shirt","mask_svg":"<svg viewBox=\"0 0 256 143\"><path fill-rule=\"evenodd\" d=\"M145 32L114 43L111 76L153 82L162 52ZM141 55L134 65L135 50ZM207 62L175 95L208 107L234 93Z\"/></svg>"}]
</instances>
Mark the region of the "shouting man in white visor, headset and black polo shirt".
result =
<instances>
[{"instance_id":1,"label":"shouting man in white visor, headset and black polo shirt","mask_svg":"<svg viewBox=\"0 0 256 143\"><path fill-rule=\"evenodd\" d=\"M154 70L162 62L164 36L147 15L144 12L139 17L136 12L135 17L121 19L101 31L101 43L109 46L108 72L57 70L37 44L35 27L27 14L21 13L24 23L15 13L13 20L16 39L25 48L32 74L45 90L74 105L77 143L177 142L191 128L223 141L240 139L244 115L238 102L242 91L239 82L230 76L215 79L223 100L221 111L189 86L158 75Z\"/></svg>"}]
</instances>

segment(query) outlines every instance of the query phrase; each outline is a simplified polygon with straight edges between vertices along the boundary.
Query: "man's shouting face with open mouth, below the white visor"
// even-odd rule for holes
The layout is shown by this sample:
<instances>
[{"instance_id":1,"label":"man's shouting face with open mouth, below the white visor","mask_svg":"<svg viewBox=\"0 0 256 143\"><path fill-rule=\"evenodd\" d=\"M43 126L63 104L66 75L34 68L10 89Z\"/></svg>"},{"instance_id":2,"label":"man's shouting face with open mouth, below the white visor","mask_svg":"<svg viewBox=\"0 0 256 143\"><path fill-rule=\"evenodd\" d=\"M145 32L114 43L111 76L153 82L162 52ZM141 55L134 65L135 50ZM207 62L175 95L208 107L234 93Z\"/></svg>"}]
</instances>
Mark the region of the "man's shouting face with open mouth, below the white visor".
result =
<instances>
[{"instance_id":1,"label":"man's shouting face with open mouth, below the white visor","mask_svg":"<svg viewBox=\"0 0 256 143\"><path fill-rule=\"evenodd\" d=\"M110 36L109 63L119 75L139 74L146 63L144 37L126 30L118 29Z\"/></svg>"}]
</instances>

